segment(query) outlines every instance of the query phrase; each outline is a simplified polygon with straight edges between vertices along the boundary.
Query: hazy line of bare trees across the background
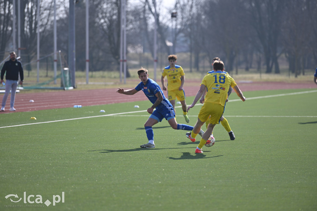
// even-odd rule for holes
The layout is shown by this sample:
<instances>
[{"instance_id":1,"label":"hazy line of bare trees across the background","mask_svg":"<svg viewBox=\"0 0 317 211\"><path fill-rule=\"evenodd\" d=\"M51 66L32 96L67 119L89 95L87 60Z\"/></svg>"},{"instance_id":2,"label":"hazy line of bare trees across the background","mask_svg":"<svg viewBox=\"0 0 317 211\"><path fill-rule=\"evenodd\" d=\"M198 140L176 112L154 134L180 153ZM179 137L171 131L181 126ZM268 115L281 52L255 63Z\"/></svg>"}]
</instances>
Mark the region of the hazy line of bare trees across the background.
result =
<instances>
[{"instance_id":1,"label":"hazy line of bare trees across the background","mask_svg":"<svg viewBox=\"0 0 317 211\"><path fill-rule=\"evenodd\" d=\"M69 4L56 2L57 49L68 52ZM0 2L2 60L12 47L12 3ZM89 0L90 71L119 71L121 3L122 0ZM36 58L37 30L41 55L53 52L53 4L54 0L40 1L37 20L37 0L21 0L24 62ZM216 56L225 62L229 73L238 67L248 71L264 66L265 73L279 74L281 56L287 59L295 77L317 64L317 0L176 0L172 5L159 0L127 0L126 8L128 53L154 55L156 12L159 51L166 56L188 52L190 71L199 71L203 58L211 63ZM77 71L85 70L85 10L85 0L79 0L75 5ZM177 16L171 17L172 12Z\"/></svg>"}]
</instances>

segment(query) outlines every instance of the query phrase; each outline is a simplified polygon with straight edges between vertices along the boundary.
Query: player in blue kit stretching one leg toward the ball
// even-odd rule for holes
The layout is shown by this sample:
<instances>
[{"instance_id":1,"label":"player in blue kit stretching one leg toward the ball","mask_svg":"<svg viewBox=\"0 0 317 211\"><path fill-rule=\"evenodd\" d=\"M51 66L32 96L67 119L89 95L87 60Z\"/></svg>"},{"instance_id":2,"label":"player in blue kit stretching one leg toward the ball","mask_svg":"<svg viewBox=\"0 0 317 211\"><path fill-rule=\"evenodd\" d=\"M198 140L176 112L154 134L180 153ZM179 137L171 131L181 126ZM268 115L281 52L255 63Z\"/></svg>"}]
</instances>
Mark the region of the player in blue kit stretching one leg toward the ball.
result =
<instances>
[{"instance_id":1,"label":"player in blue kit stretching one leg toward the ball","mask_svg":"<svg viewBox=\"0 0 317 211\"><path fill-rule=\"evenodd\" d=\"M147 109L150 113L150 117L144 124L146 136L148 139L147 144L143 144L141 148L154 148L154 133L152 126L161 122L165 118L171 127L175 130L185 130L192 131L193 126L178 124L175 120L175 112L172 104L168 99L165 98L163 91L159 85L152 79L149 78L147 69L141 68L138 70L139 79L141 82L134 89L124 90L123 88L118 88L117 93L133 95L140 90L146 95L146 97L153 103L153 105ZM154 110L155 108L155 110ZM204 131L200 131L199 135L203 136Z\"/></svg>"}]
</instances>

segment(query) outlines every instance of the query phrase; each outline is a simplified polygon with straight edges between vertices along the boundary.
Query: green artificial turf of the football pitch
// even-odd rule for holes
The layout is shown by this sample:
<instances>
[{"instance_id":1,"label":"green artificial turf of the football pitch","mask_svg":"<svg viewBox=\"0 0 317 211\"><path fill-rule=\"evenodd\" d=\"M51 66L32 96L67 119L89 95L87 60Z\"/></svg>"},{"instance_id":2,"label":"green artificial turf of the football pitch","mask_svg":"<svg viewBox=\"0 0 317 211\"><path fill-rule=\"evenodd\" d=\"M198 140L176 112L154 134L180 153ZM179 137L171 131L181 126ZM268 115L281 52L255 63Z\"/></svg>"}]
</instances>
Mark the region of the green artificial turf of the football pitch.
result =
<instances>
[{"instance_id":1,"label":"green artificial turf of the football pitch","mask_svg":"<svg viewBox=\"0 0 317 211\"><path fill-rule=\"evenodd\" d=\"M303 91L232 93L224 116L236 140L217 125L202 154L199 135L192 143L166 120L153 126L155 148L140 148L149 101L2 114L0 210L316 210L316 92L252 99Z\"/></svg>"}]
</instances>

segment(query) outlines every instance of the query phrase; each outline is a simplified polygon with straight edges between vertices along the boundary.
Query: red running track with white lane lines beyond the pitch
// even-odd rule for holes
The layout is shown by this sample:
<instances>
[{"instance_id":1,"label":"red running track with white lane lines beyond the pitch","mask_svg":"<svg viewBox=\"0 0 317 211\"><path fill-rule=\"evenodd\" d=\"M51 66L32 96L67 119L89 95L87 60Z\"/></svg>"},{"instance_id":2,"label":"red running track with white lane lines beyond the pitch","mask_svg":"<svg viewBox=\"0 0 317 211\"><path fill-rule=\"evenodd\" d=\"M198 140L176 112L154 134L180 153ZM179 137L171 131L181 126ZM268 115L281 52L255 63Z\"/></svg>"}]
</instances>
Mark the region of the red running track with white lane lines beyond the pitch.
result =
<instances>
[{"instance_id":1,"label":"red running track with white lane lines beyond the pitch","mask_svg":"<svg viewBox=\"0 0 317 211\"><path fill-rule=\"evenodd\" d=\"M188 80L187 80L188 82ZM191 81L193 84L196 81ZM197 80L197 86L184 86L186 96L195 96L199 89L200 81ZM137 83L135 84L137 85ZM242 92L256 91L256 90L278 90L278 89L315 89L314 83L283 83L283 82L255 82L255 83L238 83ZM131 87L134 88L134 87ZM43 93L16 93L16 100L14 107L16 112L28 112L45 109L67 108L74 107L74 105L104 105L111 103L133 102L140 100L147 100L142 92L138 92L133 96L116 93L116 88L112 89L95 89L95 90L59 90L54 92ZM165 96L167 91L164 91ZM0 94L2 102L3 93ZM248 98L248 96L246 96ZM29 102L34 100L34 102ZM188 103L188 102L187 102ZM8 113L10 109L10 95L7 99L5 112Z\"/></svg>"}]
</instances>

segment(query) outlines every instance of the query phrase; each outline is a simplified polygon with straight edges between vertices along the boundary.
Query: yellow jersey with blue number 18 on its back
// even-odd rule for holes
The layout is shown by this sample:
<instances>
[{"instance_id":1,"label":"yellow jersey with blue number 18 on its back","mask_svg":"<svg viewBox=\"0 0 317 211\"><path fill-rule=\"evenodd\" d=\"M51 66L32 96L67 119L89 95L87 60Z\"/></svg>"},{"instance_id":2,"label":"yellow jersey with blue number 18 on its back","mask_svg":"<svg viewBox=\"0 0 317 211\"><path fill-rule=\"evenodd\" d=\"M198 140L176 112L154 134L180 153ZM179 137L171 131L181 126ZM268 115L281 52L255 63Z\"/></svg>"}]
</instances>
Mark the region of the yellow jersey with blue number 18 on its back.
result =
<instances>
[{"instance_id":1,"label":"yellow jersey with blue number 18 on its back","mask_svg":"<svg viewBox=\"0 0 317 211\"><path fill-rule=\"evenodd\" d=\"M217 103L225 106L229 86L236 86L235 80L226 72L215 71L207 74L202 80L207 88L204 102Z\"/></svg>"}]
</instances>

